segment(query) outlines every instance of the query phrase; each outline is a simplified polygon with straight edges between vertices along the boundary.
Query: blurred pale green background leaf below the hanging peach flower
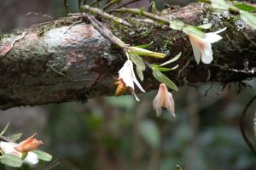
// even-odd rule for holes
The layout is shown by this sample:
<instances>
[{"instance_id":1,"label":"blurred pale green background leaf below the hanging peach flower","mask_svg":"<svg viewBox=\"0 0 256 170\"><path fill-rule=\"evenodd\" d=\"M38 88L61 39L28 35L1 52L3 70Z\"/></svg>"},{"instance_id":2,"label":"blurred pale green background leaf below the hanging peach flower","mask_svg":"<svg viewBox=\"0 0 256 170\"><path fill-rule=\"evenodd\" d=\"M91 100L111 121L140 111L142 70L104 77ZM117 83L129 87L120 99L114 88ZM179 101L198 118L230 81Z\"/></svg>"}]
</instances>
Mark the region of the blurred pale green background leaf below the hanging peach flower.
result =
<instances>
[{"instance_id":1,"label":"blurred pale green background leaf below the hanging peach flower","mask_svg":"<svg viewBox=\"0 0 256 170\"><path fill-rule=\"evenodd\" d=\"M152 121L143 121L138 127L140 135L152 148L160 148L160 129Z\"/></svg>"}]
</instances>

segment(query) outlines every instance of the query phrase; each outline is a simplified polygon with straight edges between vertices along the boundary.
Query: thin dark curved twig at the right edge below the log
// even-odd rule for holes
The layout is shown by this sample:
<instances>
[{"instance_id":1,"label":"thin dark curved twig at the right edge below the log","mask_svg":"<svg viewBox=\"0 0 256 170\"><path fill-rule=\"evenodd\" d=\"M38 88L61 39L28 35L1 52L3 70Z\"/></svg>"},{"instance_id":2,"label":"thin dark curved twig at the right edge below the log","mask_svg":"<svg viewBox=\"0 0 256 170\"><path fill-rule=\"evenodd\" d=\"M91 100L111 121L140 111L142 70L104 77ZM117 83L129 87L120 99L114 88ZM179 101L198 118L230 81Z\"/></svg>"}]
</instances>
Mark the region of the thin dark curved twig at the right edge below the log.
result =
<instances>
[{"instance_id":1,"label":"thin dark curved twig at the right edge below the log","mask_svg":"<svg viewBox=\"0 0 256 170\"><path fill-rule=\"evenodd\" d=\"M246 134L246 130L245 130L245 118L246 118L246 114L247 114L247 110L250 107L250 105L253 104L254 99L256 99L256 95L249 100L249 102L247 103L247 105L245 106L245 108L243 109L242 113L241 113L241 118L240 118L240 130L241 130L241 135L242 138L244 139L244 141L247 143L247 146L250 148L250 150L253 151L253 154L256 156L256 150L253 147L253 144L251 143L250 139L247 138L247 134Z\"/></svg>"}]
</instances>

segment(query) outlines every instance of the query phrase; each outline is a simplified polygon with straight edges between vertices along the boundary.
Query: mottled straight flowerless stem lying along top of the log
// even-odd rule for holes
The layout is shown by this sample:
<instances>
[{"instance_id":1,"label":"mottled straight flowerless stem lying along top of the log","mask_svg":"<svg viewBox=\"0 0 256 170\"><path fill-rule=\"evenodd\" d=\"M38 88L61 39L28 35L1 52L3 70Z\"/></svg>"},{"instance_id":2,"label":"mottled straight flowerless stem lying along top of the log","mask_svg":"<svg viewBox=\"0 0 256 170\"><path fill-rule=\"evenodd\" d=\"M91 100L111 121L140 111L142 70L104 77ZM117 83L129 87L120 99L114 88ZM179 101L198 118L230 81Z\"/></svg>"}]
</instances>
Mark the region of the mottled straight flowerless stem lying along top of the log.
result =
<instances>
[{"instance_id":1,"label":"mottled straight flowerless stem lying along top of the log","mask_svg":"<svg viewBox=\"0 0 256 170\"><path fill-rule=\"evenodd\" d=\"M98 16L102 17L103 19L113 20L113 22L115 22L115 23L119 23L121 25L131 27L131 24L128 23L127 21L122 20L122 19L120 19L118 17L115 17L115 16L113 16L111 14L105 13L104 11L102 11L102 9L92 8L92 7L88 6L88 5L84 5L81 8L82 8L83 11L89 11L91 14L97 14Z\"/></svg>"}]
</instances>

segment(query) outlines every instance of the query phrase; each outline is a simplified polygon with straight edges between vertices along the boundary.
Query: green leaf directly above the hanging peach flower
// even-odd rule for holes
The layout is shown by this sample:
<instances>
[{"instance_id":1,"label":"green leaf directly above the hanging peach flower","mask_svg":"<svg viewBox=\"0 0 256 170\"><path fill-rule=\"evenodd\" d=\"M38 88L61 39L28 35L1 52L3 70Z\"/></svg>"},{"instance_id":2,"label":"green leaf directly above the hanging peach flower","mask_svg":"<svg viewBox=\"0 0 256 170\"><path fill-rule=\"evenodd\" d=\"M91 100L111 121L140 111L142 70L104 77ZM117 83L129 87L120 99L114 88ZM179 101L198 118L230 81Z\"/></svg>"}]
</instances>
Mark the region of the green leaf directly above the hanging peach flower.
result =
<instances>
[{"instance_id":1,"label":"green leaf directly above the hanging peach flower","mask_svg":"<svg viewBox=\"0 0 256 170\"><path fill-rule=\"evenodd\" d=\"M177 91L177 86L174 82L172 82L168 77L166 77L163 73L161 73L157 67L153 67L153 76L159 82L165 83L168 88L171 88L174 91Z\"/></svg>"}]
</instances>

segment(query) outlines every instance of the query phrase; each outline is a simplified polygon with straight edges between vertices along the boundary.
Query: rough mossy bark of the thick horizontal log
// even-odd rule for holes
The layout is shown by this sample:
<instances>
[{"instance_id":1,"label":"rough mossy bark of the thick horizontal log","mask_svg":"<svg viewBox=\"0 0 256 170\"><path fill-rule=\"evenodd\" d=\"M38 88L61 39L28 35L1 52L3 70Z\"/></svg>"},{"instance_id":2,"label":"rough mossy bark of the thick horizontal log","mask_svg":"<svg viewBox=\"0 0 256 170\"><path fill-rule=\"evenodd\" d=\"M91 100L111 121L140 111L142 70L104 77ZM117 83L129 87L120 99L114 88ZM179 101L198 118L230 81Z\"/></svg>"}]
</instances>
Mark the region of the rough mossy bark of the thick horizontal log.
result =
<instances>
[{"instance_id":1,"label":"rough mossy bark of the thick horizontal log","mask_svg":"<svg viewBox=\"0 0 256 170\"><path fill-rule=\"evenodd\" d=\"M201 8L197 3L185 8L166 9L161 14L194 26L211 21L211 31L227 26L224 40L213 44L212 64L196 65L188 37L152 20L128 16L126 20L133 25L132 28L112 22L106 22L106 25L127 43L137 45L154 41L150 49L168 54L166 59L182 51L181 59L175 63L179 68L166 72L179 86L195 82L226 84L256 76L253 72L256 68L256 31L245 26L236 16L212 12L208 6ZM125 61L122 51L102 37L90 23L74 25L76 21L65 18L20 33L1 35L1 110L113 94L113 77L117 76ZM25 31L25 37L20 39ZM20 40L11 48L11 43L17 39ZM161 63L163 60L151 62ZM147 90L157 88L158 83L150 71L145 72L145 76L143 87Z\"/></svg>"}]
</instances>

